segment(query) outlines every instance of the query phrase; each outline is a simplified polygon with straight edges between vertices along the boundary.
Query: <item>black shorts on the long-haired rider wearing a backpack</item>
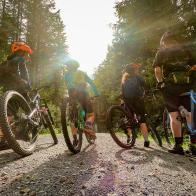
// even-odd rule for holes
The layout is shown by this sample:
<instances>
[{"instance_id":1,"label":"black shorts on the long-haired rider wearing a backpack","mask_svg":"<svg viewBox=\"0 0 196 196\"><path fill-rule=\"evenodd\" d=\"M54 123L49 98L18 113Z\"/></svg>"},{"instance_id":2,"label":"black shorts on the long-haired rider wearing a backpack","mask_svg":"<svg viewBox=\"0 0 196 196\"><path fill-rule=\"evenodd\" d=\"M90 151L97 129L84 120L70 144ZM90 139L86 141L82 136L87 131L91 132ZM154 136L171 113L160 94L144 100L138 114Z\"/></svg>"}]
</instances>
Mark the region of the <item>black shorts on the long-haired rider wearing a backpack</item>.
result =
<instances>
[{"instance_id":1,"label":"black shorts on the long-haired rider wearing a backpack","mask_svg":"<svg viewBox=\"0 0 196 196\"><path fill-rule=\"evenodd\" d=\"M124 99L124 101L131 111L140 116L139 122L146 123L146 110L143 98Z\"/></svg>"}]
</instances>

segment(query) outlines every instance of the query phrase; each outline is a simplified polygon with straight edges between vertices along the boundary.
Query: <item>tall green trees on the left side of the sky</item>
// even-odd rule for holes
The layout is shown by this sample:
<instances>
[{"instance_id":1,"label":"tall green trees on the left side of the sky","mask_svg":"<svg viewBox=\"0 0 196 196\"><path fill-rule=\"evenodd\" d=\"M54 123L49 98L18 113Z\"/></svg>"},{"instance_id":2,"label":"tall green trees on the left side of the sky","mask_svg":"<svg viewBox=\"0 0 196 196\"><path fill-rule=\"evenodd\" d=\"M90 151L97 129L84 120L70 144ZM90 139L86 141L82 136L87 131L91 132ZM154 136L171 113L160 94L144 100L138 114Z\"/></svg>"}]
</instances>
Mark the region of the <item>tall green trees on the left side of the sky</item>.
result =
<instances>
[{"instance_id":1,"label":"tall green trees on the left side of the sky","mask_svg":"<svg viewBox=\"0 0 196 196\"><path fill-rule=\"evenodd\" d=\"M65 89L60 65L68 48L64 27L54 0L0 1L0 62L10 54L13 41L31 46L33 55L28 69L33 88L50 86L41 91L41 96L48 100L58 127L58 105Z\"/></svg>"}]
</instances>

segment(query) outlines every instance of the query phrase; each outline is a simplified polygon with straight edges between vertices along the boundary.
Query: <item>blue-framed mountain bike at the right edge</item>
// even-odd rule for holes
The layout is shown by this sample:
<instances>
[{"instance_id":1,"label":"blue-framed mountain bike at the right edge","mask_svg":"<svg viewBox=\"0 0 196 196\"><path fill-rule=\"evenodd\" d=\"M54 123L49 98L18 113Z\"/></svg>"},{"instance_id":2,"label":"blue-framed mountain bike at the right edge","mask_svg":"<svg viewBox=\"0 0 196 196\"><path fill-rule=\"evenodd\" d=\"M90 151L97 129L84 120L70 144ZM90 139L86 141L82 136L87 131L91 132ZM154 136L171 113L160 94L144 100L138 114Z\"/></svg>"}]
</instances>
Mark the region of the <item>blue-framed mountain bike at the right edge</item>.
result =
<instances>
[{"instance_id":1,"label":"blue-framed mountain bike at the right edge","mask_svg":"<svg viewBox=\"0 0 196 196\"><path fill-rule=\"evenodd\" d=\"M180 116L178 118L179 121L182 123L182 135L184 137L188 137L188 135L196 134L196 93L191 90L190 92L183 93L181 96L189 96L190 97L190 104L191 104L191 125L187 124L186 115L182 115L180 112ZM174 143L174 137L170 128L170 118L169 112L165 109L163 113L163 128L165 132L166 141L169 145Z\"/></svg>"}]
</instances>

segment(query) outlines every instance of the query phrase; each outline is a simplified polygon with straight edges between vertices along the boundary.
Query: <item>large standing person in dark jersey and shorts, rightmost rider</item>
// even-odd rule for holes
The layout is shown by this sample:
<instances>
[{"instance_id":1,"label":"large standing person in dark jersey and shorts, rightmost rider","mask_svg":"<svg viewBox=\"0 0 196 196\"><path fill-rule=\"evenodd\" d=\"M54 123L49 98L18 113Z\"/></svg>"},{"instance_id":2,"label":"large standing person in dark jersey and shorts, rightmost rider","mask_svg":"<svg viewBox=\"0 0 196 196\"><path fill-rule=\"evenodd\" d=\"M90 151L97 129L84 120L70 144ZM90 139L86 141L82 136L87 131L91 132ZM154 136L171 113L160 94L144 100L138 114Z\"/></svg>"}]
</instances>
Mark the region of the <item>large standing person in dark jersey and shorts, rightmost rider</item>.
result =
<instances>
[{"instance_id":1,"label":"large standing person in dark jersey and shorts, rightmost rider","mask_svg":"<svg viewBox=\"0 0 196 196\"><path fill-rule=\"evenodd\" d=\"M170 126L175 137L175 145L170 153L184 154L182 148L183 136L179 120L179 106L184 106L189 111L187 122L191 123L190 99L180 96L189 91L195 81L194 72L196 59L192 51L179 37L171 31L163 34L160 40L160 50L153 62L158 86L163 88L163 97L170 116ZM190 138L190 151L196 154L196 136Z\"/></svg>"}]
</instances>

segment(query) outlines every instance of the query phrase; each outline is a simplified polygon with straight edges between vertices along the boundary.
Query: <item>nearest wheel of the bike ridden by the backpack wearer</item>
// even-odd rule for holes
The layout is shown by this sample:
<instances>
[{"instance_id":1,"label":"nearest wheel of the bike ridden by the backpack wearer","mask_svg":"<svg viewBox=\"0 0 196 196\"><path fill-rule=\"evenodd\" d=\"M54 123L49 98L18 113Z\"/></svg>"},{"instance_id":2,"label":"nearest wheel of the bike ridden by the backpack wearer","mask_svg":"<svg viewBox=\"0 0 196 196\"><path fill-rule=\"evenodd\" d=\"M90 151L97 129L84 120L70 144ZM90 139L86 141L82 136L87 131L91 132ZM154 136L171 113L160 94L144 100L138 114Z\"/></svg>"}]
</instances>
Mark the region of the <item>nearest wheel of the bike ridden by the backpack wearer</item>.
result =
<instances>
[{"instance_id":1,"label":"nearest wheel of the bike ridden by the backpack wearer","mask_svg":"<svg viewBox=\"0 0 196 196\"><path fill-rule=\"evenodd\" d=\"M130 129L131 119L127 112L118 105L111 106L107 113L107 127L113 140L122 148L134 146L135 129Z\"/></svg>"}]
</instances>

